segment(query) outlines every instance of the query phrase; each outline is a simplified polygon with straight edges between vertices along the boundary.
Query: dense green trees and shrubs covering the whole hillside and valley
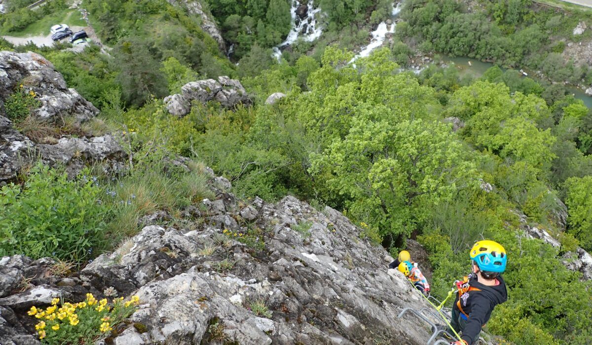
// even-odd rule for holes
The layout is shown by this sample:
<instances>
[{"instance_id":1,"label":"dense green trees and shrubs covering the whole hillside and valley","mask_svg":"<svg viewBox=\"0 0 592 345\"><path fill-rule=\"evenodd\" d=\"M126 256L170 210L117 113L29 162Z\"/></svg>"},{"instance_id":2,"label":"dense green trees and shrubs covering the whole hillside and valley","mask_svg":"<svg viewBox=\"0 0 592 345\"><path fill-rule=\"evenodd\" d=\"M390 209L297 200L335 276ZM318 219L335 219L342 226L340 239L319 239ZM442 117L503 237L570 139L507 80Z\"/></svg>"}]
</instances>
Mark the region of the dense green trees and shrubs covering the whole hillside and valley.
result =
<instances>
[{"instance_id":1,"label":"dense green trees and shrubs covering the whole hillside and valley","mask_svg":"<svg viewBox=\"0 0 592 345\"><path fill-rule=\"evenodd\" d=\"M182 207L210 193L202 174L210 166L231 180L239 197L295 195L339 209L365 225L360 237L392 254L416 238L430 253L436 296L445 296L466 273L475 240L499 241L509 253L509 301L496 308L488 330L516 344L592 339L591 283L561 263L578 246L592 250L590 110L562 85L523 78L513 69L492 67L471 79L453 66L420 73L400 68L412 54L403 42L414 41L425 51L590 82L592 70L558 63L559 48L549 49L559 44L554 35L572 30L580 17L535 12L529 1L487 1L482 12L468 13L453 0L406 0L398 40L353 66L352 50L368 34L363 25L386 18L392 4L321 0L323 36L297 41L278 63L271 47L289 31L287 1L208 1L204 6L223 37L236 44L234 65L201 30L199 18L166 1L84 4L112 47L109 54L98 47L73 53L5 41L0 46L49 59L69 87L101 109L83 130L123 133L133 158L117 179L89 167L69 180L59 169L36 166L20 183L2 187L0 209L10 216L0 220L0 255L83 263L137 233L139 219L157 209L173 215L170 225L182 224L175 217ZM195 103L186 117L168 114L163 96L220 75L240 78L255 104L224 109ZM287 96L265 105L274 92ZM8 105L18 110L13 114L24 114L12 120L27 134L33 101L11 97ZM464 127L453 131L450 117ZM192 163L191 172L165 167L165 158L175 155L200 163ZM100 205L88 203L99 196ZM557 217L562 204L566 229ZM51 207L57 211L30 211ZM89 212L73 221L82 209ZM527 238L520 214L561 247ZM47 237L42 225L30 225L34 220L52 220L56 228L69 223L71 231Z\"/></svg>"}]
</instances>

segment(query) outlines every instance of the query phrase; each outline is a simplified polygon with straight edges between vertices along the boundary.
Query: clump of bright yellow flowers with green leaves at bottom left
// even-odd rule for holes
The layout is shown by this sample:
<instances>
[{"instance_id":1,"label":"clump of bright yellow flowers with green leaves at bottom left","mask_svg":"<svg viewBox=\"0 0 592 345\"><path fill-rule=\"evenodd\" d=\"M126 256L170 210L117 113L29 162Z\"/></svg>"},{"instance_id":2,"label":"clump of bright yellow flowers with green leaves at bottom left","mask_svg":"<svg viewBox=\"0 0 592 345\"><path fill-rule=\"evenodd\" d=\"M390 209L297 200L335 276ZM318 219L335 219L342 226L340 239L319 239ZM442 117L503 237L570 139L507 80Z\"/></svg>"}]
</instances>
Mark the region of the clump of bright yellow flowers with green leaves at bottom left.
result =
<instances>
[{"instance_id":1,"label":"clump of bright yellow flowers with green leaves at bottom left","mask_svg":"<svg viewBox=\"0 0 592 345\"><path fill-rule=\"evenodd\" d=\"M138 296L132 296L127 302L123 299L115 298L108 305L106 298L97 301L92 294L86 294L84 302L62 301L59 307L60 299L54 298L45 310L31 307L27 314L40 320L35 329L43 344L92 344L107 337L140 302Z\"/></svg>"}]
</instances>

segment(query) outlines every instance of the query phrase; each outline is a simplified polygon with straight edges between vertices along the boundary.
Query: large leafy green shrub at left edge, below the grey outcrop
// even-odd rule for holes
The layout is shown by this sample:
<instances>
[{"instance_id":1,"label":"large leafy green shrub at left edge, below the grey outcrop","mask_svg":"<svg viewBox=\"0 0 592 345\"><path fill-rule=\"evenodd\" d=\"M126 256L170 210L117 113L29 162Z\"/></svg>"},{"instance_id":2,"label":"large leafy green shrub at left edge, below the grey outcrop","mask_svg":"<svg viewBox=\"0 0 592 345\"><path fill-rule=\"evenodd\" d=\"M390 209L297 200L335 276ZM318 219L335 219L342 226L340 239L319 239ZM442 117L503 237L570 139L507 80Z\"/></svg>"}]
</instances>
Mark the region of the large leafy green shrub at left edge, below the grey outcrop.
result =
<instances>
[{"instance_id":1,"label":"large leafy green shrub at left edge, below the grey outcrop","mask_svg":"<svg viewBox=\"0 0 592 345\"><path fill-rule=\"evenodd\" d=\"M102 188L38 163L23 185L0 189L0 256L81 261L104 246L108 208Z\"/></svg>"}]
</instances>

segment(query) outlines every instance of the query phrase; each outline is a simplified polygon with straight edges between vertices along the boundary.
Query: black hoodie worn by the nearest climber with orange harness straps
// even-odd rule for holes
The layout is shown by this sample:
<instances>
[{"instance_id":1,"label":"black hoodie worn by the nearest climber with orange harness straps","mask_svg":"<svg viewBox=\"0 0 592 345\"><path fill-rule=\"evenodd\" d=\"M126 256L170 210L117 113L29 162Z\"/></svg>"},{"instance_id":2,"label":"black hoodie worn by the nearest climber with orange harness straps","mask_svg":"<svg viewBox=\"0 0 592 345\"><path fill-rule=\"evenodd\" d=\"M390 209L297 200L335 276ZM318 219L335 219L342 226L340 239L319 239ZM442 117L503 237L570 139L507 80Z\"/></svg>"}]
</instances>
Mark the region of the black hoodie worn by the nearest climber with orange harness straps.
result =
<instances>
[{"instance_id":1,"label":"black hoodie worn by the nearest climber with orange harness straps","mask_svg":"<svg viewBox=\"0 0 592 345\"><path fill-rule=\"evenodd\" d=\"M471 345L473 339L481 332L481 327L491 317L491 312L496 305L506 302L508 293L506 290L506 283L501 275L497 277L500 284L495 286L487 286L478 282L477 278L469 278L469 285L478 288L481 291L469 291L468 297L461 298L462 310L469 315L466 321L465 328L462 330L462 340ZM458 309L456 302L459 300L458 294L454 301L453 308Z\"/></svg>"}]
</instances>

